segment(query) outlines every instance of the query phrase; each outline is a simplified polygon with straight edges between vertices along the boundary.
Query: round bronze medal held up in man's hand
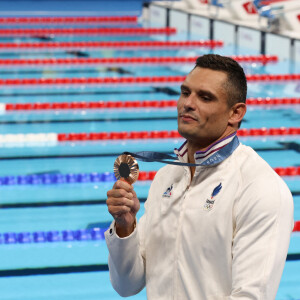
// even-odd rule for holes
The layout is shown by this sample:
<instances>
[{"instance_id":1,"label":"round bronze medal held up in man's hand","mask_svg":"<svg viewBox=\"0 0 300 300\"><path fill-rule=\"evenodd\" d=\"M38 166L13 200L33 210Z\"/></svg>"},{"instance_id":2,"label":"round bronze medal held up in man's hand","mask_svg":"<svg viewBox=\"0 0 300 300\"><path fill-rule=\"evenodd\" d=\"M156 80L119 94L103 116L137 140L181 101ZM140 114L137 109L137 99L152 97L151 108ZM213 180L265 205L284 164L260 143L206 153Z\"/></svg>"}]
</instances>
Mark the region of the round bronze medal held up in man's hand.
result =
<instances>
[{"instance_id":1,"label":"round bronze medal held up in man's hand","mask_svg":"<svg viewBox=\"0 0 300 300\"><path fill-rule=\"evenodd\" d=\"M114 174L118 180L124 178L133 184L139 177L139 165L131 155L122 154L115 160Z\"/></svg>"}]
</instances>

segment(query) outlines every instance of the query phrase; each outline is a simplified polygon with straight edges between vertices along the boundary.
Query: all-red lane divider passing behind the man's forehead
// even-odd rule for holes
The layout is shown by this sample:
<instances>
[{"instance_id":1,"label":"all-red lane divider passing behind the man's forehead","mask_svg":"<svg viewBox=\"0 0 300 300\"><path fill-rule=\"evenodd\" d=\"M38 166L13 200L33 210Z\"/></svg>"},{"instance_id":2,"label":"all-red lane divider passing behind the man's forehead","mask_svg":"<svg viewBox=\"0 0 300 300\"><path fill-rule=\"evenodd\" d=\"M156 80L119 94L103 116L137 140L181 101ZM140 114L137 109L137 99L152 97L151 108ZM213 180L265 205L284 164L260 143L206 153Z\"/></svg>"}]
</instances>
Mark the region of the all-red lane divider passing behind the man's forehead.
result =
<instances>
[{"instance_id":1,"label":"all-red lane divider passing behind the man's forehead","mask_svg":"<svg viewBox=\"0 0 300 300\"><path fill-rule=\"evenodd\" d=\"M91 78L24 78L24 79L0 79L0 86L11 87L49 87L49 86L100 86L100 85L155 85L178 84L185 80L186 76L137 76L137 77L91 77ZM299 81L300 74L254 74L247 75L248 82L286 82Z\"/></svg>"}]
</instances>

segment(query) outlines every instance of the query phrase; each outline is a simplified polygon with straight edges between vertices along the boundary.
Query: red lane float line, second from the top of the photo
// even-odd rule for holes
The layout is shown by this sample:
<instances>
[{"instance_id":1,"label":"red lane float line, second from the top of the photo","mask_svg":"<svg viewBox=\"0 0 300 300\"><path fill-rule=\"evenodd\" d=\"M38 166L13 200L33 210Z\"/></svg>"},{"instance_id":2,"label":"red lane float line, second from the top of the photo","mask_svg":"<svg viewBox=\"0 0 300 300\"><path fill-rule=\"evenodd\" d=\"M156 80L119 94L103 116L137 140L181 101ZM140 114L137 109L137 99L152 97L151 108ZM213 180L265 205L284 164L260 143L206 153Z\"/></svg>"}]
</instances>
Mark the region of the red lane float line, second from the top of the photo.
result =
<instances>
[{"instance_id":1,"label":"red lane float line, second from the top of the photo","mask_svg":"<svg viewBox=\"0 0 300 300\"><path fill-rule=\"evenodd\" d=\"M0 37L69 36L69 35L171 35L176 28L14 28L0 29Z\"/></svg>"}]
</instances>

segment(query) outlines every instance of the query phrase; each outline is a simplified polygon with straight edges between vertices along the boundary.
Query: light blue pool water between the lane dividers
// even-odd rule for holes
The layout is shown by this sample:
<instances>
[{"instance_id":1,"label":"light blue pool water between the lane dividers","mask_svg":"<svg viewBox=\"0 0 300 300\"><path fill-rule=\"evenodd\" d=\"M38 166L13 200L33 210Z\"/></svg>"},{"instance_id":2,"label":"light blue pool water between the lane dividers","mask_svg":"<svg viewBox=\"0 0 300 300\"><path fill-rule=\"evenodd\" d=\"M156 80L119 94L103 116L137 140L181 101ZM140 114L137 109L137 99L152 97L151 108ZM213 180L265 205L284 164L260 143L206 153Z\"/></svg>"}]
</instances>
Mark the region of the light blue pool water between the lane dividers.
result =
<instances>
[{"instance_id":1,"label":"light blue pool water between the lane dividers","mask_svg":"<svg viewBox=\"0 0 300 300\"><path fill-rule=\"evenodd\" d=\"M176 38L176 37L175 37ZM179 37L177 37L179 39ZM93 40L95 38L92 38ZM106 40L107 38L105 38ZM140 37L113 40L141 40ZM151 40L145 37L143 40ZM18 39L37 41L37 39ZM71 40L54 38L55 41ZM89 37L72 40L90 40ZM97 38L100 40L100 38ZM112 39L110 39L112 40ZM16 39L0 39L1 42ZM85 51L91 57L197 56L197 50L155 51ZM225 45L216 53L237 54ZM241 53L239 53L241 54ZM248 54L247 51L243 54ZM74 57L66 52L0 53L0 58ZM261 66L243 64L248 74L297 73L300 67L290 62ZM12 68L0 78L58 77L126 77L186 75L192 65L184 66L119 66L89 68ZM0 90L1 103L72 102L72 101L135 101L178 99L179 84L112 87L9 87ZM249 83L248 97L300 97L299 82ZM299 127L299 105L251 106L244 128ZM110 109L44 112L7 112L0 115L0 134L76 133L176 130L176 109ZM44 144L0 144L0 176L41 173L112 172L115 158L123 151L153 150L172 153L182 139L65 142ZM242 137L272 167L300 165L299 136ZM140 163L143 171L157 171L159 163ZM295 204L295 220L300 220L300 178L284 177ZM150 181L136 183L141 199L138 218L143 214ZM85 182L49 185L0 185L0 234L86 229L111 222L106 205L106 191L113 182ZM300 254L300 235L293 233L289 255ZM107 271L107 249L103 240L53 243L0 244L1 299L120 299L113 291ZM291 256L290 256L291 257ZM277 300L300 298L298 260L286 262ZM77 269L76 269L77 268ZM25 276L26 275L26 276ZM30 288L28 288L30 287ZM145 290L130 299L146 299Z\"/></svg>"}]
</instances>

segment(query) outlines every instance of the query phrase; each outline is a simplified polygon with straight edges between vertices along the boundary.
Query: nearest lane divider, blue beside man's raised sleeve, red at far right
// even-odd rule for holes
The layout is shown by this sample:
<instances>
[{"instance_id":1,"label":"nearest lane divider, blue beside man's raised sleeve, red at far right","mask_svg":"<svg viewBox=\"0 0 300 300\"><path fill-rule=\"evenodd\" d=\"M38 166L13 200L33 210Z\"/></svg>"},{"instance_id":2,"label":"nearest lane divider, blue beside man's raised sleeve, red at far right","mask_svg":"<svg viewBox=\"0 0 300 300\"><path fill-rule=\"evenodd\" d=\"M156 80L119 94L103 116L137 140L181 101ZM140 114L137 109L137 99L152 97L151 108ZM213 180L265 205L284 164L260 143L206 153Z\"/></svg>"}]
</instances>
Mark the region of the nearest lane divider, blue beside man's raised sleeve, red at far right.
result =
<instances>
[{"instance_id":1,"label":"nearest lane divider, blue beside man's raised sleeve, red at far right","mask_svg":"<svg viewBox=\"0 0 300 300\"><path fill-rule=\"evenodd\" d=\"M109 228L109 225L108 223L101 228L92 229L5 232L0 233L0 245L105 240L104 232ZM300 221L294 223L293 232L300 232Z\"/></svg>"}]
</instances>

